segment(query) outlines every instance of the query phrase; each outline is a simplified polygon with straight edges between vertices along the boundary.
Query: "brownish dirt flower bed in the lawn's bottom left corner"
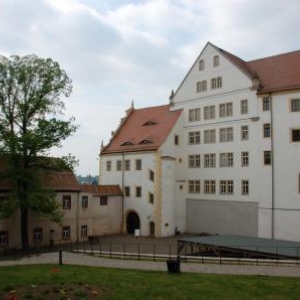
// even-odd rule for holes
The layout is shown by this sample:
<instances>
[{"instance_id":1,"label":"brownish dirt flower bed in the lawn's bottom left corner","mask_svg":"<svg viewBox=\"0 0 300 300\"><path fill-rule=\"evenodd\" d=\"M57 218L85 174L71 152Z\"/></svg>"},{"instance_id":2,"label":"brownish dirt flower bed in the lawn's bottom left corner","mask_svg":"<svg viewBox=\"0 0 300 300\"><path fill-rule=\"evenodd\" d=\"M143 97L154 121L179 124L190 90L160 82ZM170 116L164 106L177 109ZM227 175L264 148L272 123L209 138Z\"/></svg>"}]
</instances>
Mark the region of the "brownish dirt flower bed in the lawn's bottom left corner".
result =
<instances>
[{"instance_id":1,"label":"brownish dirt flower bed in the lawn's bottom left corner","mask_svg":"<svg viewBox=\"0 0 300 300\"><path fill-rule=\"evenodd\" d=\"M0 299L5 300L90 300L104 299L109 296L109 290L96 285L71 284L63 285L32 285L14 290L6 289L0 292Z\"/></svg>"}]
</instances>

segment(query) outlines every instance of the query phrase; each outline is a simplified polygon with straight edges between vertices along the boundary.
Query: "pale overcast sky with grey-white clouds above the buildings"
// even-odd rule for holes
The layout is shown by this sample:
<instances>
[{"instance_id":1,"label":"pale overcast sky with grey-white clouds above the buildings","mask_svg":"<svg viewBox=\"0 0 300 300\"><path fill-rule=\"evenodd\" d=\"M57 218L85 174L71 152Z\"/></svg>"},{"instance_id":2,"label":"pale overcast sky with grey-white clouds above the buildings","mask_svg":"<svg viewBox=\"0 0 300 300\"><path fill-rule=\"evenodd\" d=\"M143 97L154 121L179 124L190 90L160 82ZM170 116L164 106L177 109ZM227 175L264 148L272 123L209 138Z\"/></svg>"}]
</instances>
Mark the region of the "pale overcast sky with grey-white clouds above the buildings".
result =
<instances>
[{"instance_id":1,"label":"pale overcast sky with grey-white clouds above the buildings","mask_svg":"<svg viewBox=\"0 0 300 300\"><path fill-rule=\"evenodd\" d=\"M164 105L210 41L244 60L300 49L299 0L0 0L0 54L35 53L73 80L80 126L54 155L98 174L125 110Z\"/></svg>"}]
</instances>

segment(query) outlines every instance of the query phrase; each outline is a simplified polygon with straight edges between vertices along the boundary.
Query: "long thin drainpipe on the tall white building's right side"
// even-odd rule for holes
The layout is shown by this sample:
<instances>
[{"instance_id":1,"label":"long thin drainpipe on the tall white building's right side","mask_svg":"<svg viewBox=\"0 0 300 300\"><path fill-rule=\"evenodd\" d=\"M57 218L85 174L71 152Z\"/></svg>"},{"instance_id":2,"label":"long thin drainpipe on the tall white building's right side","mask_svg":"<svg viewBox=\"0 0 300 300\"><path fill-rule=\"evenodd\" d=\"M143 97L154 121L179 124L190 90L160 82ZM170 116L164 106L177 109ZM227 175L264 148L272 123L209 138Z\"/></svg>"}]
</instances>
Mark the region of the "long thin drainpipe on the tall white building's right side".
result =
<instances>
[{"instance_id":1,"label":"long thin drainpipe on the tall white building's right side","mask_svg":"<svg viewBox=\"0 0 300 300\"><path fill-rule=\"evenodd\" d=\"M275 165L274 165L274 128L273 128L273 99L272 94L269 93L270 98L270 112L271 112L271 198L272 198L272 206L271 206L271 237L275 238Z\"/></svg>"}]
</instances>

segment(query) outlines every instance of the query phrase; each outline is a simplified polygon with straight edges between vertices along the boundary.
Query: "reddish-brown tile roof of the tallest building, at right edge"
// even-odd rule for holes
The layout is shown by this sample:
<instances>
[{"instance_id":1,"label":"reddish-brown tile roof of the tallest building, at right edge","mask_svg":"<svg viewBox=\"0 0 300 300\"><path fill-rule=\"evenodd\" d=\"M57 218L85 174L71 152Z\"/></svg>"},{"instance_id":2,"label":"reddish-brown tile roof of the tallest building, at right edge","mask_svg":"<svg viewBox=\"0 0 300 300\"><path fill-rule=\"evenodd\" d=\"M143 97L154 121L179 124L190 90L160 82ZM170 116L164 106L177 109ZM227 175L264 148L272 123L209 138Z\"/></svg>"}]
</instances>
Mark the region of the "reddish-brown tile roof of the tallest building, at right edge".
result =
<instances>
[{"instance_id":1,"label":"reddish-brown tile roof of the tallest building, at right edge","mask_svg":"<svg viewBox=\"0 0 300 300\"><path fill-rule=\"evenodd\" d=\"M300 51L244 61L218 48L229 60L252 79L258 78L258 94L300 89Z\"/></svg>"}]
</instances>

